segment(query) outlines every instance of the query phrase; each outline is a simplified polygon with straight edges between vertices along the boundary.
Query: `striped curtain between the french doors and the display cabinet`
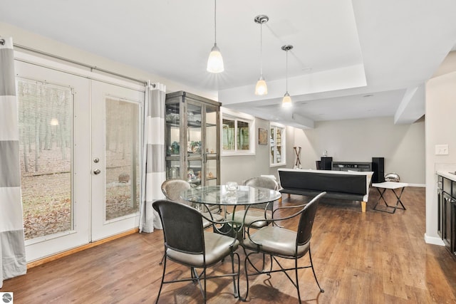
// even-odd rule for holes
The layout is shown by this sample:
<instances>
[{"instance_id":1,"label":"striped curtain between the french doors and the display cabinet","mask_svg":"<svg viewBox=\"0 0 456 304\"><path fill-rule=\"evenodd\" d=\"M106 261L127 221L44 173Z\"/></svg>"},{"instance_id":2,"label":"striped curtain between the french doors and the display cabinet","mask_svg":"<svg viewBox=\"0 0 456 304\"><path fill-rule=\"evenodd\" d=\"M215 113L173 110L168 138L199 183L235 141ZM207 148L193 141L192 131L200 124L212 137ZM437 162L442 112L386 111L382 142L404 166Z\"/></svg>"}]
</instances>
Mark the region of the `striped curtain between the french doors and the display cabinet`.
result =
<instances>
[{"instance_id":1,"label":"striped curtain between the french doors and the display cabinet","mask_svg":"<svg viewBox=\"0 0 456 304\"><path fill-rule=\"evenodd\" d=\"M166 86L147 83L144 107L144 167L142 168L142 206L140 232L162 229L160 217L152 208L152 201L162 199L161 186L165 182L165 95Z\"/></svg>"}]
</instances>

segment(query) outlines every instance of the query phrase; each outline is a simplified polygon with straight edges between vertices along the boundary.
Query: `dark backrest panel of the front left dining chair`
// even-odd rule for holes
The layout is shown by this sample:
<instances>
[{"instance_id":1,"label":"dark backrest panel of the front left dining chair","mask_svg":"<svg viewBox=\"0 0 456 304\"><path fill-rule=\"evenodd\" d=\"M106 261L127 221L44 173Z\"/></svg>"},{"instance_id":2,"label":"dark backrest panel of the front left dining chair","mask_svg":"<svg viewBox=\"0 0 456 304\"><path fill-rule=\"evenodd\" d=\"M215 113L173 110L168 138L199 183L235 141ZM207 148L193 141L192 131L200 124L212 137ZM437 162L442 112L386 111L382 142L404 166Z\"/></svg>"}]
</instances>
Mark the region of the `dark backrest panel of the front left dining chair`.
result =
<instances>
[{"instance_id":1,"label":"dark backrest panel of the front left dining chair","mask_svg":"<svg viewBox=\"0 0 456 304\"><path fill-rule=\"evenodd\" d=\"M192 254L204 253L202 216L196 209L165 199L155 201L152 206L160 214L168 248Z\"/></svg>"}]
</instances>

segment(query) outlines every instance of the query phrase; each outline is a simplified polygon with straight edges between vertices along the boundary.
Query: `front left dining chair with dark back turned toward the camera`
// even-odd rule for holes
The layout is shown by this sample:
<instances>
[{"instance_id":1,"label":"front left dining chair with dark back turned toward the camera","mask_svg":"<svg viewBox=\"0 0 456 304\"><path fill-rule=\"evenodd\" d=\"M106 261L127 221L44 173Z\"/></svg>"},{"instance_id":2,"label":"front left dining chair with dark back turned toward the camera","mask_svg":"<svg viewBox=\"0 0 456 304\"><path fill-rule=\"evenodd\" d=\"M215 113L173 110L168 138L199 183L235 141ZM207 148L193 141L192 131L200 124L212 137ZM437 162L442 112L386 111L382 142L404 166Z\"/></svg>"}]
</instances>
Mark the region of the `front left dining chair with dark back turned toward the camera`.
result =
<instances>
[{"instance_id":1,"label":"front left dining chair with dark back turned toward the camera","mask_svg":"<svg viewBox=\"0 0 456 304\"><path fill-rule=\"evenodd\" d=\"M206 280L209 278L232 277L234 286L234 298L239 297L239 254L235 252L239 247L239 240L223 234L205 231L202 225L204 216L196 209L180 204L176 201L161 199L152 204L160 215L162 222L165 261L163 263L162 281L158 290L157 300L160 298L163 284L182 281L198 283L203 301L207 300ZM207 221L212 219L206 218ZM226 224L235 224L225 221ZM212 221L212 226L224 224ZM207 268L214 266L227 257L231 258L232 273L224 273L218 276L207 276ZM234 256L237 256L237 271L234 270ZM190 267L190 278L178 278L165 281L167 260ZM202 269L199 273L197 269ZM171 271L174 273L174 271ZM201 284L201 281L203 284Z\"/></svg>"}]
</instances>

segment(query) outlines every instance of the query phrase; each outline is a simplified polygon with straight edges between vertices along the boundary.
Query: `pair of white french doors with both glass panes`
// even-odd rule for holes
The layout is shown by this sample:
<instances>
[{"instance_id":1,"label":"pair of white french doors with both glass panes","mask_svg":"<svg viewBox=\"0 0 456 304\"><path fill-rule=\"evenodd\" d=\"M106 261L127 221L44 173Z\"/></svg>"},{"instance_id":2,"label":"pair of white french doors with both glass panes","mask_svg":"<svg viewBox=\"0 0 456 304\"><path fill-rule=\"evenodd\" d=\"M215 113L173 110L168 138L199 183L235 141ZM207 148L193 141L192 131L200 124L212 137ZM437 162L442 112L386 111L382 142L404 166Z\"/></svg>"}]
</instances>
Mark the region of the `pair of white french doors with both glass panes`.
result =
<instances>
[{"instance_id":1,"label":"pair of white french doors with both glass panes","mask_svg":"<svg viewBox=\"0 0 456 304\"><path fill-rule=\"evenodd\" d=\"M143 91L15 68L26 260L138 227Z\"/></svg>"}]
</instances>

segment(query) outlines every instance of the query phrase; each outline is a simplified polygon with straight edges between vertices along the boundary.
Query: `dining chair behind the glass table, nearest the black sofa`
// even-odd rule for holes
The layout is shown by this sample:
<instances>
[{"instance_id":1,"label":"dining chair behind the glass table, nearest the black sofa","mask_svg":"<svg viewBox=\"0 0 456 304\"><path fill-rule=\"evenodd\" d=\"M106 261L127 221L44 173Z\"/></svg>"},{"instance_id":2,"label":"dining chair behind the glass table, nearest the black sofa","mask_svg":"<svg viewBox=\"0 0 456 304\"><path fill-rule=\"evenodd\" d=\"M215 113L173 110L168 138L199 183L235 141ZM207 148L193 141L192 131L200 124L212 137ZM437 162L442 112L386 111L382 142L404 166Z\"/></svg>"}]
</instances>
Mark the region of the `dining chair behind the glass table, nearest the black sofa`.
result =
<instances>
[{"instance_id":1,"label":"dining chair behind the glass table, nearest the black sofa","mask_svg":"<svg viewBox=\"0 0 456 304\"><path fill-rule=\"evenodd\" d=\"M244 181L244 186L261 187L272 190L279 189L279 185L270 177L252 177ZM244 222L245 226L252 225L254 228L261 228L270 223L272 211L274 209L274 201L264 204L254 204L248 209L235 211L233 214L234 221L239 223Z\"/></svg>"}]
</instances>

